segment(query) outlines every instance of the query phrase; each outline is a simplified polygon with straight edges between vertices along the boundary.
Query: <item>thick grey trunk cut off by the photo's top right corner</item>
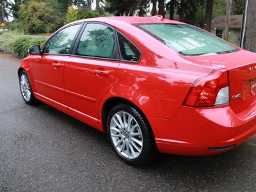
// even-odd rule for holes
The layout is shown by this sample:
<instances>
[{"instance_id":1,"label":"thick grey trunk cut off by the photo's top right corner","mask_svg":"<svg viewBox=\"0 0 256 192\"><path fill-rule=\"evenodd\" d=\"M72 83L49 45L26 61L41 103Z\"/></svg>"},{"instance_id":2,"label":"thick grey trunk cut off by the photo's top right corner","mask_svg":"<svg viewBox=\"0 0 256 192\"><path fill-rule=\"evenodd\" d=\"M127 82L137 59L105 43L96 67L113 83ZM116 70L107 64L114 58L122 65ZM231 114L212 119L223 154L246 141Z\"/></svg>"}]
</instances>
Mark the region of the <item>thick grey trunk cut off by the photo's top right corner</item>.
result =
<instances>
[{"instance_id":1,"label":"thick grey trunk cut off by the photo's top right corner","mask_svg":"<svg viewBox=\"0 0 256 192\"><path fill-rule=\"evenodd\" d=\"M248 0L248 10L246 17L246 26L244 31L244 44L243 48L256 52L256 1Z\"/></svg>"}]
</instances>

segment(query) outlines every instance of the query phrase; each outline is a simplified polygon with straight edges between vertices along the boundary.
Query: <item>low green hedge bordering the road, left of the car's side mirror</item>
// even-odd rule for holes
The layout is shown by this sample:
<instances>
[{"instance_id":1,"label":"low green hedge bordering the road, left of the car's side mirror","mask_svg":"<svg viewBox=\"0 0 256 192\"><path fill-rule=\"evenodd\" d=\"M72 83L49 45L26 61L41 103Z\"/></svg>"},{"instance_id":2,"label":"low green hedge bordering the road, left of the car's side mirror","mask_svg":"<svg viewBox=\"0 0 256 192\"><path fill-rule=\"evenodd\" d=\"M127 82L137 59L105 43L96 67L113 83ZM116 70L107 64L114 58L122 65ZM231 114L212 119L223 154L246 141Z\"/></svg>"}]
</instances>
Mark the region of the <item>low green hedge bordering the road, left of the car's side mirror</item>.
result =
<instances>
[{"instance_id":1,"label":"low green hedge bordering the road, left of the car's side mirror","mask_svg":"<svg viewBox=\"0 0 256 192\"><path fill-rule=\"evenodd\" d=\"M17 32L0 33L0 50L13 52L22 58L28 56L28 47L31 45L42 45L46 38L20 35Z\"/></svg>"}]
</instances>

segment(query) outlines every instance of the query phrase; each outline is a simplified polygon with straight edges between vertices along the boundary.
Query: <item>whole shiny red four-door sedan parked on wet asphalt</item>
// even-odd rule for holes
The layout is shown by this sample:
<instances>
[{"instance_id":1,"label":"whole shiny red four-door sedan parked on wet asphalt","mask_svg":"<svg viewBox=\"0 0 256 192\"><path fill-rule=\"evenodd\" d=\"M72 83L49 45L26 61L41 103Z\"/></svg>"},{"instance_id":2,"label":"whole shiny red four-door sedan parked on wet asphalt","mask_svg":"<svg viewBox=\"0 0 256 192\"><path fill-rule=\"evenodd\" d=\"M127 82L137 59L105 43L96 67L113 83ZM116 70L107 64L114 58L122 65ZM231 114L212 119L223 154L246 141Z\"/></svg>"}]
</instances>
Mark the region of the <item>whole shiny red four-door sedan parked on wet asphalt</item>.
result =
<instances>
[{"instance_id":1,"label":"whole shiny red four-door sedan parked on wet asphalt","mask_svg":"<svg viewBox=\"0 0 256 192\"><path fill-rule=\"evenodd\" d=\"M194 26L158 15L77 20L28 51L24 101L106 132L126 163L219 154L256 133L256 54Z\"/></svg>"}]
</instances>

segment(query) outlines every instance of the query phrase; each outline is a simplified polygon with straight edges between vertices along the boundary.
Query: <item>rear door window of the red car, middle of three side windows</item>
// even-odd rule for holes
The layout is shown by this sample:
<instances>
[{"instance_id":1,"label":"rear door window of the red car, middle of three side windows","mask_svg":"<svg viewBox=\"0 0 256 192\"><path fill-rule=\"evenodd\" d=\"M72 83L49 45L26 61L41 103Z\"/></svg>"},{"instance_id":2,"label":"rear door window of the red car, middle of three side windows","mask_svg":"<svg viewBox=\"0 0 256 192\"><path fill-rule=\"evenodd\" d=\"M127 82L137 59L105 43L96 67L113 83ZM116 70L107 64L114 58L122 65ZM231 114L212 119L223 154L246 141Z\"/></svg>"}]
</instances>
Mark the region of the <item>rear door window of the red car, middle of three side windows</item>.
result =
<instances>
[{"instance_id":1,"label":"rear door window of the red car, middle of three side windows","mask_svg":"<svg viewBox=\"0 0 256 192\"><path fill-rule=\"evenodd\" d=\"M102 24L87 24L79 40L76 54L111 58L115 46L113 29Z\"/></svg>"}]
</instances>

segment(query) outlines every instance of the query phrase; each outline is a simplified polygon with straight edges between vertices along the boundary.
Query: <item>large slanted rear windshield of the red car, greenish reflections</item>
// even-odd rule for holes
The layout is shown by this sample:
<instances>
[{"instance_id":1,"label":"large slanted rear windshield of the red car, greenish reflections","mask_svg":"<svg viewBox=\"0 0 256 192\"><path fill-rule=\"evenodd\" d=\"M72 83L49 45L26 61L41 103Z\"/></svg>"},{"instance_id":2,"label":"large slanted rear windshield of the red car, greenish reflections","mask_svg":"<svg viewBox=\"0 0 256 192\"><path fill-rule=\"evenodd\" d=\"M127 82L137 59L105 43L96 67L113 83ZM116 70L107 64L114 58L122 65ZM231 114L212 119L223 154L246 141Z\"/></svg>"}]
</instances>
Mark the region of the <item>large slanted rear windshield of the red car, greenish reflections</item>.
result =
<instances>
[{"instance_id":1,"label":"large slanted rear windshield of the red car, greenish reflections","mask_svg":"<svg viewBox=\"0 0 256 192\"><path fill-rule=\"evenodd\" d=\"M184 56L223 54L237 49L214 35L185 24L136 24Z\"/></svg>"}]
</instances>

